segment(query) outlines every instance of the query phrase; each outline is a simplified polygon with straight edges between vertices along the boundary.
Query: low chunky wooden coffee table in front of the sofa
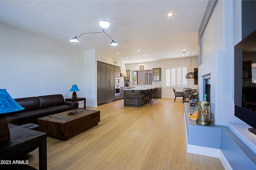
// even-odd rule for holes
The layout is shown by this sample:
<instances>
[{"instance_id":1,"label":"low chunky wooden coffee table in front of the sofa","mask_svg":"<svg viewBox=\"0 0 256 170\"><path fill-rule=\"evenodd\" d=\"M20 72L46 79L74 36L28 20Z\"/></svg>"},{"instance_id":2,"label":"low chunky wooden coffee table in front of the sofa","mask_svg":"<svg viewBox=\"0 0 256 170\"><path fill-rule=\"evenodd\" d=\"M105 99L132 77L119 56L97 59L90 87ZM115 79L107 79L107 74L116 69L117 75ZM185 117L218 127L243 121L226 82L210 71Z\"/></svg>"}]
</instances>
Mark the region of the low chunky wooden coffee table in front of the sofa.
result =
<instances>
[{"instance_id":1,"label":"low chunky wooden coffee table in front of the sofa","mask_svg":"<svg viewBox=\"0 0 256 170\"><path fill-rule=\"evenodd\" d=\"M74 115L68 113L76 111ZM74 109L38 119L40 131L51 137L66 140L100 122L100 111Z\"/></svg>"}]
</instances>

